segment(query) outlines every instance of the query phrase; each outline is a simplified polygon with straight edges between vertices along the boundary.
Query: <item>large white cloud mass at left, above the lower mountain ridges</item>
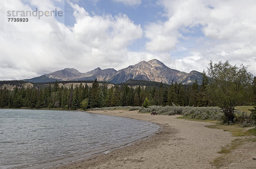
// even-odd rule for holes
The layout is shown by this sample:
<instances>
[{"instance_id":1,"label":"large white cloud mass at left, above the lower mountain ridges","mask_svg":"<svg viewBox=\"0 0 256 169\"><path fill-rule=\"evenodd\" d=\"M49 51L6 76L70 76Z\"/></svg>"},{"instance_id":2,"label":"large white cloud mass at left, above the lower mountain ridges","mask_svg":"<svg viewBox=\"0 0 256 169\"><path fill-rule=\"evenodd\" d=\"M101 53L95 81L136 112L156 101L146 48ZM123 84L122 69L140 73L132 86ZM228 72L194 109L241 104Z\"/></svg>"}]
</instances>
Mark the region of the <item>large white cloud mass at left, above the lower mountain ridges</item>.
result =
<instances>
[{"instance_id":1,"label":"large white cloud mass at left, above the lower mountain ridges","mask_svg":"<svg viewBox=\"0 0 256 169\"><path fill-rule=\"evenodd\" d=\"M19 0L9 4L31 10ZM10 24L8 31L0 31L0 79L32 78L63 68L81 72L98 66L122 68L128 55L126 47L143 36L140 25L125 14L91 16L84 8L70 4L76 18L73 27L54 18L32 18L35 25L30 25L31 30Z\"/></svg>"}]
</instances>

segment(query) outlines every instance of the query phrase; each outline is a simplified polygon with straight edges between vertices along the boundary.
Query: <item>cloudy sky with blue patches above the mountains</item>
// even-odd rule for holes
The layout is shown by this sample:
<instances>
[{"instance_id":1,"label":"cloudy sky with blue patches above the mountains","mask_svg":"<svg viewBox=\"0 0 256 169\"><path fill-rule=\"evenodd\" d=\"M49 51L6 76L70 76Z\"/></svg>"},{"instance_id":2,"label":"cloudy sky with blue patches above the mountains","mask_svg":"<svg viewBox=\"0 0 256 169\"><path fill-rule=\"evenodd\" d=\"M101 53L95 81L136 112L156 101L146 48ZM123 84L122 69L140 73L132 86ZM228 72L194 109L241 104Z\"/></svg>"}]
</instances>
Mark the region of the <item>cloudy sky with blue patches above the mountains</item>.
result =
<instances>
[{"instance_id":1,"label":"cloudy sky with blue patches above the mountains","mask_svg":"<svg viewBox=\"0 0 256 169\"><path fill-rule=\"evenodd\" d=\"M8 22L8 11L36 9L64 15ZM255 9L255 0L0 0L0 80L150 59L185 72L229 60L256 76Z\"/></svg>"}]
</instances>

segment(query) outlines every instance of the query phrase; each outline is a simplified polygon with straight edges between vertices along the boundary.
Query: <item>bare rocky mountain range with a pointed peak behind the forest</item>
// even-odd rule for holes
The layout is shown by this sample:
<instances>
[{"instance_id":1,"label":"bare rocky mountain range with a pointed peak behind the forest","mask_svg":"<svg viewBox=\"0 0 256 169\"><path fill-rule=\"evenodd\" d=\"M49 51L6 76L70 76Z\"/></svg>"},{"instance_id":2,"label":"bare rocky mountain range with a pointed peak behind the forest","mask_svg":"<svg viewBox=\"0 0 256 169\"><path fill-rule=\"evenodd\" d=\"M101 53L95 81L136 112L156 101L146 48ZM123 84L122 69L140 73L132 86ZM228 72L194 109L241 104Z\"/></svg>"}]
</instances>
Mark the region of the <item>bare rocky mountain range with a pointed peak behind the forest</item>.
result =
<instances>
[{"instance_id":1,"label":"bare rocky mountain range with a pointed peak behind the forest","mask_svg":"<svg viewBox=\"0 0 256 169\"><path fill-rule=\"evenodd\" d=\"M44 79L41 79L44 77ZM179 70L171 69L164 65L157 59L150 60L148 62L142 61L136 65L128 66L116 71L115 69L96 68L87 73L81 73L74 68L65 68L64 70L58 70L53 73L49 73L43 76L39 76L32 79L25 79L27 82L44 81L69 81L69 80L95 80L107 81L112 83L122 83L129 79L147 80L155 82L163 82L170 84L172 82L192 84L195 79L198 80L198 84L201 84L202 75L198 71L191 71L190 73L180 72Z\"/></svg>"}]
</instances>

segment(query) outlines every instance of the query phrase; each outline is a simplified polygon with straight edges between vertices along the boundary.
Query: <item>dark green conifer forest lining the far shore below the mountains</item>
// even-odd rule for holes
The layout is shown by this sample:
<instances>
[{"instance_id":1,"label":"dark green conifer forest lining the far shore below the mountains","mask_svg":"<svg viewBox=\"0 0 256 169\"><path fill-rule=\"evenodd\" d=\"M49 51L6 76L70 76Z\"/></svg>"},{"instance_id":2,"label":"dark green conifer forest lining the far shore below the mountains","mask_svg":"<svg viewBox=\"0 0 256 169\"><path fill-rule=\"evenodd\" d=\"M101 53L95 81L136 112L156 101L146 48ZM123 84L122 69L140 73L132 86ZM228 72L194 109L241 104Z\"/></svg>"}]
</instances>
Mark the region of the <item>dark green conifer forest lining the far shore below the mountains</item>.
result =
<instances>
[{"instance_id":1,"label":"dark green conifer forest lining the far shore below the mountains","mask_svg":"<svg viewBox=\"0 0 256 169\"><path fill-rule=\"evenodd\" d=\"M130 81L133 84L135 82ZM72 85L67 88L59 87L58 83L49 83L41 88L28 87L25 89L16 87L13 91L1 88L0 107L75 110L94 107L142 106L145 100L148 101L148 106L172 104L194 107L215 106L207 93L207 76L204 76L201 85L198 85L197 81L192 85L182 85L176 82L166 85L156 82L155 85L145 87L140 85L133 87L124 83L108 88L107 83L99 84L95 80L90 87L80 83L78 86L74 87ZM255 92L248 93L247 100L241 102L240 105L248 105L250 102L256 102Z\"/></svg>"}]
</instances>

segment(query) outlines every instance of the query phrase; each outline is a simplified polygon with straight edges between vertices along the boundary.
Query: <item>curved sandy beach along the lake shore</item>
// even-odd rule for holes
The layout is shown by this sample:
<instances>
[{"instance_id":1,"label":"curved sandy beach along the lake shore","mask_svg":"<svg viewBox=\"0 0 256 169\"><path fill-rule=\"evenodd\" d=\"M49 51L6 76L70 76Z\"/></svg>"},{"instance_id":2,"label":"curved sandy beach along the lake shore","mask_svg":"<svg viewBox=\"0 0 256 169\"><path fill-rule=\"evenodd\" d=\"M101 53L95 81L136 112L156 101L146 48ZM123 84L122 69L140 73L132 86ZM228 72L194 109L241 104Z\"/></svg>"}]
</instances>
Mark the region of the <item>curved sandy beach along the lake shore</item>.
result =
<instances>
[{"instance_id":1,"label":"curved sandy beach along the lake shore","mask_svg":"<svg viewBox=\"0 0 256 169\"><path fill-rule=\"evenodd\" d=\"M208 169L216 168L210 163L221 156L221 146L230 144L235 137L230 132L210 129L206 122L177 119L179 115L150 115L137 111L112 110L91 111L151 121L162 129L131 146L113 150L108 154L90 156L80 161L54 168L63 169ZM250 158L251 159L251 158ZM247 163L251 163L245 161ZM256 161L255 161L256 162ZM255 163L256 164L256 163ZM234 167L233 167L234 166ZM230 161L229 168L243 166ZM225 168L225 167L224 167ZM243 168L243 167L242 167Z\"/></svg>"}]
</instances>

